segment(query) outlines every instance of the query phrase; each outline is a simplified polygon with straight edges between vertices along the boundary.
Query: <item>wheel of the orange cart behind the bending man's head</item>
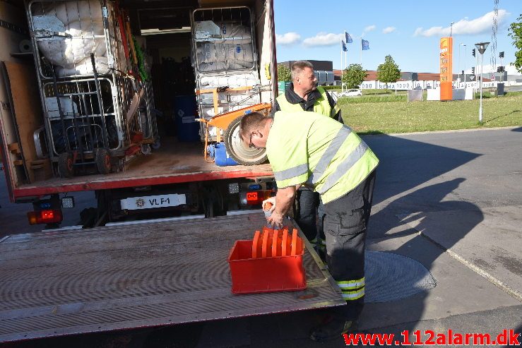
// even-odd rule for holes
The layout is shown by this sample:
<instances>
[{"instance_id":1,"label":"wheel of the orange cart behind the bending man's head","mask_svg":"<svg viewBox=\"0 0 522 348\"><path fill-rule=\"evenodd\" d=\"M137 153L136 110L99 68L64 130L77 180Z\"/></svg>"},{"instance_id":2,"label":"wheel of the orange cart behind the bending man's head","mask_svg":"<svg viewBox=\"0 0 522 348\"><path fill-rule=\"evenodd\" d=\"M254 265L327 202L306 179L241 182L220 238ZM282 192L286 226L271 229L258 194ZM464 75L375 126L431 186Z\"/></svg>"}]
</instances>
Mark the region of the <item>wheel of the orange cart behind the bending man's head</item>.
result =
<instances>
[{"instance_id":1,"label":"wheel of the orange cart behind the bending man's head","mask_svg":"<svg viewBox=\"0 0 522 348\"><path fill-rule=\"evenodd\" d=\"M266 149L249 148L239 137L239 124L243 116L230 122L225 129L225 148L228 155L239 164L251 166L266 162Z\"/></svg>"}]
</instances>

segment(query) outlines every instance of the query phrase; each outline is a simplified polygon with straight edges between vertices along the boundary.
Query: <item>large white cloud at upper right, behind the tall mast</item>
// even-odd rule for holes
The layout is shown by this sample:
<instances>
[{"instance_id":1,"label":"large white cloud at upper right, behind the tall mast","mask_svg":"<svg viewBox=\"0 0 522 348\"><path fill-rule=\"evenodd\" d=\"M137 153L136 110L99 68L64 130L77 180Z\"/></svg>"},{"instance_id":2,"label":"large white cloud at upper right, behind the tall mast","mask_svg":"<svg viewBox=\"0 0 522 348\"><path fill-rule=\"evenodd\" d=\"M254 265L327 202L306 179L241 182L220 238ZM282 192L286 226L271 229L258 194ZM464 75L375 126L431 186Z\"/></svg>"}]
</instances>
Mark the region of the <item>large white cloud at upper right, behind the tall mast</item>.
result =
<instances>
[{"instance_id":1,"label":"large white cloud at upper right, behind the tall mast","mask_svg":"<svg viewBox=\"0 0 522 348\"><path fill-rule=\"evenodd\" d=\"M498 26L501 26L506 17L509 16L509 12L506 10L499 10ZM453 24L453 35L477 35L477 34L490 34L493 25L493 11L486 13L484 16L469 20L467 17L459 20ZM432 27L429 29L417 28L414 32L414 36L449 36L450 25L447 27Z\"/></svg>"}]
</instances>

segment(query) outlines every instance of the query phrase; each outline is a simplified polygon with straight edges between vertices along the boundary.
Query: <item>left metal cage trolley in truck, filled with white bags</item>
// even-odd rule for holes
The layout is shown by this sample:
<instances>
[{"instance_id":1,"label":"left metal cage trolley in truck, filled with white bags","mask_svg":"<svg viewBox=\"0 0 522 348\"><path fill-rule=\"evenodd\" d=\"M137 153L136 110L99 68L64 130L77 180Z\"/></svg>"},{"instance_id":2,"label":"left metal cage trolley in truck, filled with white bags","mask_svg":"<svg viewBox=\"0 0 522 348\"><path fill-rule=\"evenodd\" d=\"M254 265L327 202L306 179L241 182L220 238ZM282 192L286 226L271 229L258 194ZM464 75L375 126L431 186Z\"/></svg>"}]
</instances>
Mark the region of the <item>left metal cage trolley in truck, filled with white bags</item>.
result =
<instances>
[{"instance_id":1,"label":"left metal cage trolley in truck, filled with white bags","mask_svg":"<svg viewBox=\"0 0 522 348\"><path fill-rule=\"evenodd\" d=\"M58 174L88 172L92 164L107 174L115 157L121 166L153 143L152 88L136 73L126 13L100 0L39 0L26 8L47 148Z\"/></svg>"}]
</instances>

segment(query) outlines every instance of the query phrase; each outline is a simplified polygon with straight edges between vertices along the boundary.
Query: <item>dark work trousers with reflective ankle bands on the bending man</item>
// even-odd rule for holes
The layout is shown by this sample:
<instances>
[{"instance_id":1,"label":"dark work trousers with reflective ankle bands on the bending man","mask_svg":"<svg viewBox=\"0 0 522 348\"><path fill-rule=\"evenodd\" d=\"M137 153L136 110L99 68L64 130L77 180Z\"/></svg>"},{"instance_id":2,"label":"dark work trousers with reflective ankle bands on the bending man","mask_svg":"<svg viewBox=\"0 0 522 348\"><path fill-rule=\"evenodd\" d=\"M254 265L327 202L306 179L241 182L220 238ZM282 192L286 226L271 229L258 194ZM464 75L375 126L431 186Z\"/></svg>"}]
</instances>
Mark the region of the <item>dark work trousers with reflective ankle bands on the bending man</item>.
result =
<instances>
[{"instance_id":1,"label":"dark work trousers with reflective ankle bands on the bending man","mask_svg":"<svg viewBox=\"0 0 522 348\"><path fill-rule=\"evenodd\" d=\"M326 263L348 306L345 320L356 320L364 306L364 248L372 211L375 171L345 196L324 205Z\"/></svg>"}]
</instances>

